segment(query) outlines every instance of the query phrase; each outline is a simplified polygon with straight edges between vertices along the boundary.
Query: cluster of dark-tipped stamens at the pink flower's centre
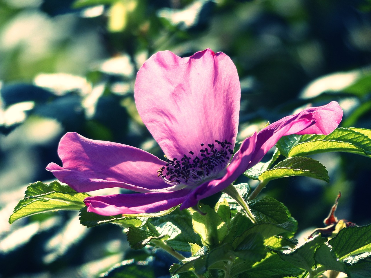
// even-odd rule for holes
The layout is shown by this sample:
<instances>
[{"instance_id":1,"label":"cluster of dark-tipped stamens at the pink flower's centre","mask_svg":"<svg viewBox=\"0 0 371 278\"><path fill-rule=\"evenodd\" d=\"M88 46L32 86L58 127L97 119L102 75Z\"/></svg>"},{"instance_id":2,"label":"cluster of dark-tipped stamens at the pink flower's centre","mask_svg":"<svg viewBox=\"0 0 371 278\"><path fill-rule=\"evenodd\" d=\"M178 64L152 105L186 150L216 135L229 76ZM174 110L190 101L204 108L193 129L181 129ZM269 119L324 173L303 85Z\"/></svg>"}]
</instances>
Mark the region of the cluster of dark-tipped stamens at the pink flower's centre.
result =
<instances>
[{"instance_id":1,"label":"cluster of dark-tipped stamens at the pink flower's centre","mask_svg":"<svg viewBox=\"0 0 371 278\"><path fill-rule=\"evenodd\" d=\"M226 168L233 150L230 149L232 143L227 140L215 142L216 145L207 144L209 148L200 149L200 157L194 156L194 152L190 151L191 156L183 155L180 160L167 159L166 166L157 171L158 176L171 185L180 183L195 185L217 176ZM204 147L205 144L201 143L201 146Z\"/></svg>"}]
</instances>

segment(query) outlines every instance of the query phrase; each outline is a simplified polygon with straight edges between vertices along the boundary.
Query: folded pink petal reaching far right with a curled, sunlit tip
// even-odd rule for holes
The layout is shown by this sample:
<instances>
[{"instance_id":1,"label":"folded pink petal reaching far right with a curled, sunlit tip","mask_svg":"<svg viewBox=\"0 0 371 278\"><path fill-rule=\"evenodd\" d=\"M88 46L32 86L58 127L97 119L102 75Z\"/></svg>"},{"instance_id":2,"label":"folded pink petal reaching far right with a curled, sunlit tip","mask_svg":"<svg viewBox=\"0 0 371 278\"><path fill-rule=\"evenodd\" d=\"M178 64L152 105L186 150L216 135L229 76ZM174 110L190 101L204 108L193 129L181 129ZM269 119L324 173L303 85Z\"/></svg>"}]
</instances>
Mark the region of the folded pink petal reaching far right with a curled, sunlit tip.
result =
<instances>
[{"instance_id":1,"label":"folded pink petal reaching far right with a curled, sunlit tip","mask_svg":"<svg viewBox=\"0 0 371 278\"><path fill-rule=\"evenodd\" d=\"M258 163L278 140L291 134L329 134L339 125L343 111L335 101L319 107L308 107L302 112L287 116L260 130L250 168Z\"/></svg>"}]
</instances>

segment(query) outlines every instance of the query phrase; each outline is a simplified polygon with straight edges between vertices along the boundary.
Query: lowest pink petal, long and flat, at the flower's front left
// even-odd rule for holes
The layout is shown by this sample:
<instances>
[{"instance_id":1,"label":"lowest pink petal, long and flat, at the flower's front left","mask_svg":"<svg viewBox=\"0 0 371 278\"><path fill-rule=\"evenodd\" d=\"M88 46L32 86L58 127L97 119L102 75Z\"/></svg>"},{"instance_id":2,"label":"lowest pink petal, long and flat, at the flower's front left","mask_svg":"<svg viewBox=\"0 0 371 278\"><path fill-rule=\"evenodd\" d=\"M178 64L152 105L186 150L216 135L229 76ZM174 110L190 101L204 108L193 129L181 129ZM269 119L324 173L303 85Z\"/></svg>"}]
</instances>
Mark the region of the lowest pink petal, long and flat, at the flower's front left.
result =
<instances>
[{"instance_id":1,"label":"lowest pink petal, long and flat, at the flower's front left","mask_svg":"<svg viewBox=\"0 0 371 278\"><path fill-rule=\"evenodd\" d=\"M184 201L189 189L171 192L116 194L85 198L89 212L100 215L140 214L165 211Z\"/></svg>"}]
</instances>

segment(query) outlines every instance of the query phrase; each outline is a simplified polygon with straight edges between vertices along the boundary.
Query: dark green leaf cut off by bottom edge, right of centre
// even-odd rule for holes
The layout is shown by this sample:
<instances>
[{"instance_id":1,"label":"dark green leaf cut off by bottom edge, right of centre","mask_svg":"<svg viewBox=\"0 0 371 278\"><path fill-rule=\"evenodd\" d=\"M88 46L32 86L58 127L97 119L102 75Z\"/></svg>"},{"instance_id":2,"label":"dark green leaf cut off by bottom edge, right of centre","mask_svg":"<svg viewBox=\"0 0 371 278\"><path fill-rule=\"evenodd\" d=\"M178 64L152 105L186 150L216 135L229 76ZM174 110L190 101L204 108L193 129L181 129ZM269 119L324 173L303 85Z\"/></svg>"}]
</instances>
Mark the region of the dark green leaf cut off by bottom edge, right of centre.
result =
<instances>
[{"instance_id":1,"label":"dark green leaf cut off by bottom edge, right of centre","mask_svg":"<svg viewBox=\"0 0 371 278\"><path fill-rule=\"evenodd\" d=\"M295 267L287 261L283 261L277 254L268 254L260 262L251 267L243 263L236 262L232 268L231 277L239 274L239 278L276 278L292 275L299 275L303 270Z\"/></svg>"}]
</instances>

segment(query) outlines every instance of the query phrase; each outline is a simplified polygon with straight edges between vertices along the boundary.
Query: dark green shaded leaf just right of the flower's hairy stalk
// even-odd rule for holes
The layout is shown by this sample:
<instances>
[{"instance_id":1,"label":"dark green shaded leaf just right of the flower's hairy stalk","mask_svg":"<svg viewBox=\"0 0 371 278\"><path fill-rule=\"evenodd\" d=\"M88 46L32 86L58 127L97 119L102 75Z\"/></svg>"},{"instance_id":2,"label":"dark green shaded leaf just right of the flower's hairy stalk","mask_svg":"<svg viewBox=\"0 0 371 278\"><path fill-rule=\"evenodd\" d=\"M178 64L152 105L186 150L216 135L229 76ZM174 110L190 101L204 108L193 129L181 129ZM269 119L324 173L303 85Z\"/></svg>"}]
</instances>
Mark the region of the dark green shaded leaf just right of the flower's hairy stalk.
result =
<instances>
[{"instance_id":1,"label":"dark green shaded leaf just right of the flower's hairy stalk","mask_svg":"<svg viewBox=\"0 0 371 278\"><path fill-rule=\"evenodd\" d=\"M247 204L259 223L282 224L289 221L285 206L272 197L263 196Z\"/></svg>"}]
</instances>

